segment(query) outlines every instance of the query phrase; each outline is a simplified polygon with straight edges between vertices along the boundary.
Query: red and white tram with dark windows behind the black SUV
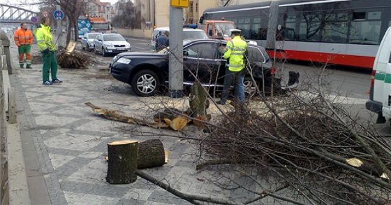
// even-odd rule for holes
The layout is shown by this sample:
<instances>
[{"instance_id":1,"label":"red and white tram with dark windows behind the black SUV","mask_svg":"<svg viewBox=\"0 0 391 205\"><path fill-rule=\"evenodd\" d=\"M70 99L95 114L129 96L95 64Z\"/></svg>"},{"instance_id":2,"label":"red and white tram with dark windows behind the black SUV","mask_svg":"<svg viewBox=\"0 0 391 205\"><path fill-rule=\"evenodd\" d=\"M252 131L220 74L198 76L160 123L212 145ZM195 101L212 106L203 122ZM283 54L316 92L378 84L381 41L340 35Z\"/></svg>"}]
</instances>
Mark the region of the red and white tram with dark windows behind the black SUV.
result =
<instances>
[{"instance_id":1,"label":"red and white tram with dark windows behind the black SUV","mask_svg":"<svg viewBox=\"0 0 391 205\"><path fill-rule=\"evenodd\" d=\"M205 10L265 46L270 1ZM276 57L371 69L391 26L391 0L280 0ZM271 55L273 56L273 55Z\"/></svg>"}]
</instances>

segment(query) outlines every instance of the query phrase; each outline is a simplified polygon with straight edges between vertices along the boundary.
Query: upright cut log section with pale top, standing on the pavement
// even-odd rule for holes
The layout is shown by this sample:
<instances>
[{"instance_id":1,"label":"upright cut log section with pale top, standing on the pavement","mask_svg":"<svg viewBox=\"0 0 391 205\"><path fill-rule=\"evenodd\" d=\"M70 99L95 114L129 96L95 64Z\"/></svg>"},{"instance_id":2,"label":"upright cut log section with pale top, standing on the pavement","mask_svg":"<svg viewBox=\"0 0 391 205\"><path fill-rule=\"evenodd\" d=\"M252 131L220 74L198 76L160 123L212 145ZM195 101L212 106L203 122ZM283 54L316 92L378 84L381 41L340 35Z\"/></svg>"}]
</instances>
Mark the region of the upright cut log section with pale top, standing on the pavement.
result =
<instances>
[{"instance_id":1,"label":"upright cut log section with pale top, standing on the pavement","mask_svg":"<svg viewBox=\"0 0 391 205\"><path fill-rule=\"evenodd\" d=\"M114 141L108 143L108 175L110 184L128 184L136 181L138 141Z\"/></svg>"}]
</instances>

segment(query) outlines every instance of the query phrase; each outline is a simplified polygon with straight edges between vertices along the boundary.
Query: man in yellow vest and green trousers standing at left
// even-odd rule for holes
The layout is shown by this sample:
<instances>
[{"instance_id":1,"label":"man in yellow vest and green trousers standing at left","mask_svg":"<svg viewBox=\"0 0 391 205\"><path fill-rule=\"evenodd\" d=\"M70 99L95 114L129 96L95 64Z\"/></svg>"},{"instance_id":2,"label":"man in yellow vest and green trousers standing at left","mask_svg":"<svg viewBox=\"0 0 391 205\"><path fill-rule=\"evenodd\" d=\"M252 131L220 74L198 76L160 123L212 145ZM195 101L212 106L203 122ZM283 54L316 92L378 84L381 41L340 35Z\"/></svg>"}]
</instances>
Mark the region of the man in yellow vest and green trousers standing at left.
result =
<instances>
[{"instance_id":1,"label":"man in yellow vest and green trousers standing at left","mask_svg":"<svg viewBox=\"0 0 391 205\"><path fill-rule=\"evenodd\" d=\"M50 20L48 17L42 17L40 27L35 32L38 50L42 53L43 85L53 85L53 83L62 83L62 80L57 78L57 59L56 45L53 42L52 34L50 33ZM49 79L49 74L52 73L52 81Z\"/></svg>"}]
</instances>

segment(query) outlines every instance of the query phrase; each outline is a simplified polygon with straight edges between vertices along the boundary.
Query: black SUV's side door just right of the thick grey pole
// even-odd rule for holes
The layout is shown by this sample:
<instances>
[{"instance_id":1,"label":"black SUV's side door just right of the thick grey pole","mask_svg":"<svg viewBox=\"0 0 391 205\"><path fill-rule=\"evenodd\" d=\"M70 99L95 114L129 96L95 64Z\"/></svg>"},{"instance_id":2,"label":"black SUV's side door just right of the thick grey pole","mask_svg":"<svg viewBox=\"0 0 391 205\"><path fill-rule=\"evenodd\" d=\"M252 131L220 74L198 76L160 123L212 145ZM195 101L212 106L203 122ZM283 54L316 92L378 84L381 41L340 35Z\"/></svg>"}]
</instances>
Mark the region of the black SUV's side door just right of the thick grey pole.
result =
<instances>
[{"instance_id":1,"label":"black SUV's side door just right of the thick grey pole","mask_svg":"<svg viewBox=\"0 0 391 205\"><path fill-rule=\"evenodd\" d=\"M205 85L213 85L213 73L219 68L217 44L196 42L184 48L184 81L193 83L196 79Z\"/></svg>"}]
</instances>

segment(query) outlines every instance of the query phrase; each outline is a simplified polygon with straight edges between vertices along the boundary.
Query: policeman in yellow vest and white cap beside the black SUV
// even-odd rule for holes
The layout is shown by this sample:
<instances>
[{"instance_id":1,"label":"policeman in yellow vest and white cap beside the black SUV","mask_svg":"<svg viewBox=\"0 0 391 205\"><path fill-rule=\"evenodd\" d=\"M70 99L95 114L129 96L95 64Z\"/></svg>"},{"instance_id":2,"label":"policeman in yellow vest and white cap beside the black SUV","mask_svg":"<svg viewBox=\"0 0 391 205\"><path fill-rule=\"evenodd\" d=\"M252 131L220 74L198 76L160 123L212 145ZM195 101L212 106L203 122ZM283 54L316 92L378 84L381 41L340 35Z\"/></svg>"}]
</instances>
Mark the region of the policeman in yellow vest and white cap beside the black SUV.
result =
<instances>
[{"instance_id":1,"label":"policeman in yellow vest and white cap beside the black SUV","mask_svg":"<svg viewBox=\"0 0 391 205\"><path fill-rule=\"evenodd\" d=\"M247 43L240 37L242 33L239 29L231 30L233 39L228 41L224 59L227 59L226 77L224 78L224 87L221 94L221 100L217 104L226 104L230 85L235 82L235 100L244 103L244 53L247 50Z\"/></svg>"}]
</instances>

